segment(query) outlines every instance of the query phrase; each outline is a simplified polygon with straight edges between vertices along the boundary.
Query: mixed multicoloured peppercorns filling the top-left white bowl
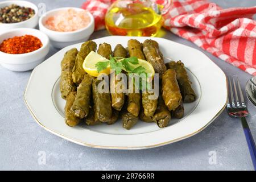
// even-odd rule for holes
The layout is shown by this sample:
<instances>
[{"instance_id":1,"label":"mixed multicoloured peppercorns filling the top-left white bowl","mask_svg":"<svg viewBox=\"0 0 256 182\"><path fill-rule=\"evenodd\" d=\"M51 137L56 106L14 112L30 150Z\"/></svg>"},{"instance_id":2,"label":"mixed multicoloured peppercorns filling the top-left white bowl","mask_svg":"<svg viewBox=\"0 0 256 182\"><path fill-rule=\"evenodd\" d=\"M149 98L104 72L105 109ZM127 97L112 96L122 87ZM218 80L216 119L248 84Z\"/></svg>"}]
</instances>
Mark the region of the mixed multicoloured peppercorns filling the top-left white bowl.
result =
<instances>
[{"instance_id":1,"label":"mixed multicoloured peppercorns filling the top-left white bowl","mask_svg":"<svg viewBox=\"0 0 256 182\"><path fill-rule=\"evenodd\" d=\"M0 23L18 23L30 19L35 10L30 7L10 5L0 9Z\"/></svg>"}]
</instances>

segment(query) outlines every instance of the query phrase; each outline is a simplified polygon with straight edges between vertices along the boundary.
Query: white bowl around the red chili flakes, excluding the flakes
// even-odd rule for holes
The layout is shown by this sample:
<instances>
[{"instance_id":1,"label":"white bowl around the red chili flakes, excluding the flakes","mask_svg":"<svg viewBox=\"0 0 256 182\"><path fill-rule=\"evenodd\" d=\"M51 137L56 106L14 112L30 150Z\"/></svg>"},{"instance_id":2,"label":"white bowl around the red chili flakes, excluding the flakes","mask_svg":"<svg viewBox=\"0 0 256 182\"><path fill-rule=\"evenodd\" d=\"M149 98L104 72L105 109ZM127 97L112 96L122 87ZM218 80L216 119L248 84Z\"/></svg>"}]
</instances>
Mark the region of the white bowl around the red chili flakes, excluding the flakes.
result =
<instances>
[{"instance_id":1,"label":"white bowl around the red chili flakes, excluding the flakes","mask_svg":"<svg viewBox=\"0 0 256 182\"><path fill-rule=\"evenodd\" d=\"M0 34L0 44L14 36L32 35L39 38L43 46L33 52L9 54L0 51L0 64L11 71L23 72L35 68L42 63L49 52L49 38L43 32L33 28L16 28Z\"/></svg>"}]
</instances>

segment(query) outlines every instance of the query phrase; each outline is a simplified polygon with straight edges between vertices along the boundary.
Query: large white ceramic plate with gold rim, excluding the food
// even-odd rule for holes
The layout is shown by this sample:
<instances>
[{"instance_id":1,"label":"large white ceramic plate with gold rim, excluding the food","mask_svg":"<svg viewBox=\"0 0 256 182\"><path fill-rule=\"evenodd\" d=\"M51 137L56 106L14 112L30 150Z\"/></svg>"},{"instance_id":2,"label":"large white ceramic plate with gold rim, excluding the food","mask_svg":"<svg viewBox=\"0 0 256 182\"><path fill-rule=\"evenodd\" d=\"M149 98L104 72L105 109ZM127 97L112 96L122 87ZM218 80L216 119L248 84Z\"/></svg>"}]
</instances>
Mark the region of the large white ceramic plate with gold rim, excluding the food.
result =
<instances>
[{"instance_id":1,"label":"large white ceramic plate with gold rim, excluding the food","mask_svg":"<svg viewBox=\"0 0 256 182\"><path fill-rule=\"evenodd\" d=\"M127 41L132 38L108 36L93 41L97 44L106 42L114 48L118 43L126 47ZM133 39L143 42L148 38ZM65 101L60 97L59 90L60 62L68 49L80 49L80 43L61 49L31 73L24 92L24 100L36 122L51 133L77 144L129 150L163 146L191 137L205 129L225 108L227 87L224 72L196 49L167 39L151 39L159 43L164 57L182 60L187 67L197 100L191 104L184 104L184 118L172 119L170 125L164 129L159 129L155 123L142 121L130 130L123 129L121 121L110 126L67 126L63 117Z\"/></svg>"}]
</instances>

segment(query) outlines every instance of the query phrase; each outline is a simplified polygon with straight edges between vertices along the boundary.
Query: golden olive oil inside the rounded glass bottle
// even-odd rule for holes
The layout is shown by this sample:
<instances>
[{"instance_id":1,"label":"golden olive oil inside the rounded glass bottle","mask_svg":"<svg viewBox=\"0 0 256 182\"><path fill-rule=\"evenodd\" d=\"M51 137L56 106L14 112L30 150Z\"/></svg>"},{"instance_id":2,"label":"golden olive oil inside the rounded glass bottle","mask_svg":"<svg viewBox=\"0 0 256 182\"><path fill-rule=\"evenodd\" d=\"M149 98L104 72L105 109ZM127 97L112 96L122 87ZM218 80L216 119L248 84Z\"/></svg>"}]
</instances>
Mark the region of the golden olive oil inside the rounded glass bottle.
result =
<instances>
[{"instance_id":1,"label":"golden olive oil inside the rounded glass bottle","mask_svg":"<svg viewBox=\"0 0 256 182\"><path fill-rule=\"evenodd\" d=\"M105 16L105 24L112 35L155 36L162 26L162 15L141 3L112 6Z\"/></svg>"}]
</instances>

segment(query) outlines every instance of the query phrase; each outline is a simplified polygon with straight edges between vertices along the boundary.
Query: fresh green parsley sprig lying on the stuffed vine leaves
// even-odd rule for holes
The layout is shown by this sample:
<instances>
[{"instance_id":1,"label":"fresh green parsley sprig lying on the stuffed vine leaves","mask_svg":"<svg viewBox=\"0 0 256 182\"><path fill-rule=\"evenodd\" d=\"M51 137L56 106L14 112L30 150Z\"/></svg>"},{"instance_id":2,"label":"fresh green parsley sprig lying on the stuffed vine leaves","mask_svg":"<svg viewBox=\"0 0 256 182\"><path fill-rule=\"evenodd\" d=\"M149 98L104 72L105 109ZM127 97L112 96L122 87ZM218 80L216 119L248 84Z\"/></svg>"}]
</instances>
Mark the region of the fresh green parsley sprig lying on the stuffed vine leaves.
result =
<instances>
[{"instance_id":1,"label":"fresh green parsley sprig lying on the stuffed vine leaves","mask_svg":"<svg viewBox=\"0 0 256 182\"><path fill-rule=\"evenodd\" d=\"M115 74L121 73L122 70L128 73L146 73L146 69L142 66L136 67L139 64L137 57L128 57L120 59L120 57L113 57L110 55L109 61L99 61L95 66L97 72L100 73L102 70L106 69L110 64L110 68L115 70Z\"/></svg>"}]
</instances>

